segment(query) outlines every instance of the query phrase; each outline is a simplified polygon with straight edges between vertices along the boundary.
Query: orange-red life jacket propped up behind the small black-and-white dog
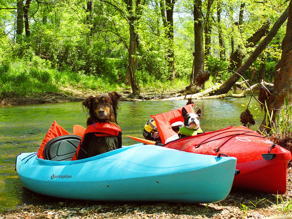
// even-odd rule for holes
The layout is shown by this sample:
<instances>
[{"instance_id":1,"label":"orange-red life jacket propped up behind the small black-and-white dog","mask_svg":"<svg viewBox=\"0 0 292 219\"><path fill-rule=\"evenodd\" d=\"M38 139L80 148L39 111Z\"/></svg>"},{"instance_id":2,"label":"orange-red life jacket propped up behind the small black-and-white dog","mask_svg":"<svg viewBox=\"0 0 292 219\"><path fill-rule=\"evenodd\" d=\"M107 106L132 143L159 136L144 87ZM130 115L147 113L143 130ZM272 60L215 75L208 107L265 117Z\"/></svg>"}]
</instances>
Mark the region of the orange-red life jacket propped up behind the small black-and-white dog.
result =
<instances>
[{"instance_id":1,"label":"orange-red life jacket propped up behind the small black-and-white dog","mask_svg":"<svg viewBox=\"0 0 292 219\"><path fill-rule=\"evenodd\" d=\"M188 104L183 107L188 113L194 113L193 104ZM169 112L151 115L151 117L155 120L162 144L165 144L165 141L167 139L171 139L171 137L177 136L178 138L178 134L171 128L171 124L178 121L183 122L182 116L183 107L176 110L171 110Z\"/></svg>"}]
</instances>

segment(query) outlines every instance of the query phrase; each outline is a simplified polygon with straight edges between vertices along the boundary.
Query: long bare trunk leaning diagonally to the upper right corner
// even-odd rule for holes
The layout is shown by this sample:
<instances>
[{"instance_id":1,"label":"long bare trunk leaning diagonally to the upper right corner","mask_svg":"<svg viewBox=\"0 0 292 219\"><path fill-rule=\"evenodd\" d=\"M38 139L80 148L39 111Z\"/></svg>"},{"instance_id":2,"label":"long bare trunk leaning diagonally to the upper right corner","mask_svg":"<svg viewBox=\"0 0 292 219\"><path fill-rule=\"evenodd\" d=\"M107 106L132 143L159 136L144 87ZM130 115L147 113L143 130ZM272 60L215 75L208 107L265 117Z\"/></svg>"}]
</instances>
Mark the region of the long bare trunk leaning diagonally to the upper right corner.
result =
<instances>
[{"instance_id":1,"label":"long bare trunk leaning diagonally to the upper right corner","mask_svg":"<svg viewBox=\"0 0 292 219\"><path fill-rule=\"evenodd\" d=\"M285 22L285 20L288 17L288 9L283 12L283 14L280 16L280 18L277 19L277 21L274 23L274 26L272 27L271 31L267 36L260 42L260 44L256 47L255 51L248 57L248 59L239 67L237 70L237 73L242 75L248 70L248 68L254 63L256 58L262 53L262 51L265 50L267 45L271 42L271 40L274 38L274 36L277 34L279 28L281 25ZM240 78L240 76L234 73L232 74L219 88L219 90L215 91L214 95L227 93L232 86L237 82L237 80Z\"/></svg>"}]
</instances>

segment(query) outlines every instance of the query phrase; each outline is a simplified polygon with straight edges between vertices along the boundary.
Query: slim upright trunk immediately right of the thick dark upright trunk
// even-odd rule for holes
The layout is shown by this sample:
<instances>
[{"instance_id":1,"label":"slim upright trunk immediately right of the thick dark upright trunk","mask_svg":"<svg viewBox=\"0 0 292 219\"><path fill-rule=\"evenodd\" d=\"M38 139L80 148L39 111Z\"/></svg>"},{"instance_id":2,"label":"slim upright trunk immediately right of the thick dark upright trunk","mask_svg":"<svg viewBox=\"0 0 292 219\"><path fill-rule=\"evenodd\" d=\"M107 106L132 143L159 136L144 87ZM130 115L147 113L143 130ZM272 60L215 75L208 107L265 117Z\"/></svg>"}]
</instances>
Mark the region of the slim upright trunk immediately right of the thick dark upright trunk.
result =
<instances>
[{"instance_id":1,"label":"slim upright trunk immediately right of the thick dark upright trunk","mask_svg":"<svg viewBox=\"0 0 292 219\"><path fill-rule=\"evenodd\" d=\"M207 13L205 17L204 30L205 30L205 58L208 60L208 56L211 55L211 34L212 34L212 25L211 25L211 7L214 0L207 1Z\"/></svg>"}]
</instances>

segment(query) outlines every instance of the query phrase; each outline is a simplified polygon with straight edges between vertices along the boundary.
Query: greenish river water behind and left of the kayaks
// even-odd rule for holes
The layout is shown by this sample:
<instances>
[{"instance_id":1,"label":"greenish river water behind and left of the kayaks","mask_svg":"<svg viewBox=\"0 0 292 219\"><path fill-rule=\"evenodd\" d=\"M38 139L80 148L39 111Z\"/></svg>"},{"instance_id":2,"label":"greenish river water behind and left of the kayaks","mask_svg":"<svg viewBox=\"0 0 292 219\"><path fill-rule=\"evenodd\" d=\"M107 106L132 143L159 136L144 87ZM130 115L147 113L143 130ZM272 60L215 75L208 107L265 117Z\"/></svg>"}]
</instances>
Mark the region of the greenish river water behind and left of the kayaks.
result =
<instances>
[{"instance_id":1,"label":"greenish river water behind and left of the kayaks","mask_svg":"<svg viewBox=\"0 0 292 219\"><path fill-rule=\"evenodd\" d=\"M195 106L202 109L201 128L211 131L230 125L240 126L240 113L246 110L249 100L250 97L196 100ZM123 132L123 145L137 143L126 135L143 138L143 128L151 114L174 110L185 104L186 100L122 102L117 120ZM263 112L258 105L252 100L249 110L257 116L259 126ZM56 201L24 188L14 170L16 156L37 151L54 120L72 133L73 125L86 127L87 115L80 102L0 107L0 211L19 203ZM257 129L256 125L251 128Z\"/></svg>"}]
</instances>

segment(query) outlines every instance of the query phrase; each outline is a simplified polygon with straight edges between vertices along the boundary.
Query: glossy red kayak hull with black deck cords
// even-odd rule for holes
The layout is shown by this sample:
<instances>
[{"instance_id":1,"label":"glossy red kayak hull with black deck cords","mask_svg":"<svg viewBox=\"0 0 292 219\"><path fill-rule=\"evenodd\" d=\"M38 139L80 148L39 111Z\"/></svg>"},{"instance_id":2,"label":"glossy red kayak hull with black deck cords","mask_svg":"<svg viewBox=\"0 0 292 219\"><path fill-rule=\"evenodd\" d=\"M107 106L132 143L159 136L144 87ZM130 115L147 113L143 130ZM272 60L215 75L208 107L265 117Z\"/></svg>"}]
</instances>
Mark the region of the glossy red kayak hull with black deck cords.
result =
<instances>
[{"instance_id":1,"label":"glossy red kayak hull with black deck cords","mask_svg":"<svg viewBox=\"0 0 292 219\"><path fill-rule=\"evenodd\" d=\"M199 154L236 157L236 168L240 173L235 176L233 187L284 194L287 166L292 156L289 150L273 144L256 131L239 126L179 139L165 147ZM274 158L265 160L262 154L274 155Z\"/></svg>"}]
</instances>

